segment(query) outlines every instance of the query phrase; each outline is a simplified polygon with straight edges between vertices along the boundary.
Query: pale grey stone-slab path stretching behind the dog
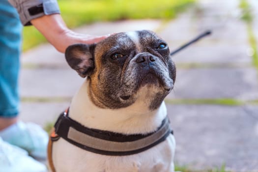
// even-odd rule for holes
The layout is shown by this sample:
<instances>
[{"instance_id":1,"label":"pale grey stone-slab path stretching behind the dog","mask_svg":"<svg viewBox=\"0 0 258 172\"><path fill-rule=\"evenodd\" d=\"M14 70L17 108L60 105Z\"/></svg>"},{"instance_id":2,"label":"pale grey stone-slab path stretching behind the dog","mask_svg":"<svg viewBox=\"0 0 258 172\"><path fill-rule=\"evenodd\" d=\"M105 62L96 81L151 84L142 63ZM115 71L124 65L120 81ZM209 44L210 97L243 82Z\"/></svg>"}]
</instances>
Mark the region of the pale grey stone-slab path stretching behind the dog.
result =
<instances>
[{"instance_id":1,"label":"pale grey stone-slab path stretching behind the dog","mask_svg":"<svg viewBox=\"0 0 258 172\"><path fill-rule=\"evenodd\" d=\"M238 0L200 1L166 24L159 20L123 21L93 24L77 31L106 34L150 29L165 38L173 50L212 28L212 36L173 57L177 79L167 99L193 102L167 104L177 142L175 161L201 171L226 163L233 172L258 172L258 104L194 103L205 99L258 100L258 71L247 53L250 45L246 24L237 18ZM258 29L255 35L258 40ZM69 106L70 97L83 79L48 44L25 53L22 62L21 118L40 125L53 122ZM39 102L42 99L45 102Z\"/></svg>"}]
</instances>

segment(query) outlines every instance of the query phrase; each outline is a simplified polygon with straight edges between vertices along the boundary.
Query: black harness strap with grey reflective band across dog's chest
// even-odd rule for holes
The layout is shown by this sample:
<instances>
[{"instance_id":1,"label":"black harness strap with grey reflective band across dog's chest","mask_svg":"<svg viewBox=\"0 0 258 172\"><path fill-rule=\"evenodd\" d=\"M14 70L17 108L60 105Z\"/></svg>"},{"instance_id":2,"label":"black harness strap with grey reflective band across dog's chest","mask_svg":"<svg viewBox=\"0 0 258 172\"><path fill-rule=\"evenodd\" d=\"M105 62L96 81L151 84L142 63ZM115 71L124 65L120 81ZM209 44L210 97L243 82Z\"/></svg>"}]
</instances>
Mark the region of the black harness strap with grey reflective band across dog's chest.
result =
<instances>
[{"instance_id":1,"label":"black harness strap with grey reflective band across dog's chest","mask_svg":"<svg viewBox=\"0 0 258 172\"><path fill-rule=\"evenodd\" d=\"M122 156L143 152L165 141L170 134L173 134L173 131L168 116L162 121L157 131L146 135L124 135L90 129L71 119L67 110L58 117L55 124L55 134L51 136L52 141L61 137L90 152Z\"/></svg>"}]
</instances>

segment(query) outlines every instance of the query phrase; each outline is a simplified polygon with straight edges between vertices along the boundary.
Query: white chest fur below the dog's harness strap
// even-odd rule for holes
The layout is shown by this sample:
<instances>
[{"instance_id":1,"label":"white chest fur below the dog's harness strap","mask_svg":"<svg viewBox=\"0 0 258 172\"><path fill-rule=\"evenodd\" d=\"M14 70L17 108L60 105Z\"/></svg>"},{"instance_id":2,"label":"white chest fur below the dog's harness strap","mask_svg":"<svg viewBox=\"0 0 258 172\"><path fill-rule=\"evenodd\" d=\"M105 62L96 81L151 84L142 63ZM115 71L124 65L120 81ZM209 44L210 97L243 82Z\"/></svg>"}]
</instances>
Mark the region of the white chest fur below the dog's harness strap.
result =
<instances>
[{"instance_id":1,"label":"white chest fur below the dog's harness strap","mask_svg":"<svg viewBox=\"0 0 258 172\"><path fill-rule=\"evenodd\" d=\"M139 154L107 156L91 153L59 139L53 145L57 172L173 172L175 141L166 141Z\"/></svg>"}]
</instances>

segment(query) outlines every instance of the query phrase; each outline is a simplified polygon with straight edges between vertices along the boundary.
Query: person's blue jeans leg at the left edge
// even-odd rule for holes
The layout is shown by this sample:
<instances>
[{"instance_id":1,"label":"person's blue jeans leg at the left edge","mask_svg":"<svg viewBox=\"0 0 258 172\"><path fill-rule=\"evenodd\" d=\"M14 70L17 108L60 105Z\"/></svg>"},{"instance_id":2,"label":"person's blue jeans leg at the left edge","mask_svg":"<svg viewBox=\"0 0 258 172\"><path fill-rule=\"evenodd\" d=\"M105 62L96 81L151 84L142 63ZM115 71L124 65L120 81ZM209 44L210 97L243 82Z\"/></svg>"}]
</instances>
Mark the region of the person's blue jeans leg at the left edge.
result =
<instances>
[{"instance_id":1,"label":"person's blue jeans leg at the left edge","mask_svg":"<svg viewBox=\"0 0 258 172\"><path fill-rule=\"evenodd\" d=\"M21 32L16 9L7 0L0 0L0 117L19 113Z\"/></svg>"}]
</instances>

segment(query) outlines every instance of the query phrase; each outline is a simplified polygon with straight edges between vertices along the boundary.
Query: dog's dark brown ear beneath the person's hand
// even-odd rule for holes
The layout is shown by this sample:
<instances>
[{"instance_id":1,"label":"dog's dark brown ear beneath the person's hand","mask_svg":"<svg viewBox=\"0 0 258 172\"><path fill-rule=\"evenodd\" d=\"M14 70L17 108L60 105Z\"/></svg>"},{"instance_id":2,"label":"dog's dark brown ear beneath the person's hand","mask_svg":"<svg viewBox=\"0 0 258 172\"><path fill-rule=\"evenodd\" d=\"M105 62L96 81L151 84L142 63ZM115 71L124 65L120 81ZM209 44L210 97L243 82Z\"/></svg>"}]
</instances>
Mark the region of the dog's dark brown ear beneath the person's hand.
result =
<instances>
[{"instance_id":1,"label":"dog's dark brown ear beneath the person's hand","mask_svg":"<svg viewBox=\"0 0 258 172\"><path fill-rule=\"evenodd\" d=\"M65 50L65 58L69 66L85 78L94 70L94 49L96 44L73 44Z\"/></svg>"}]
</instances>

